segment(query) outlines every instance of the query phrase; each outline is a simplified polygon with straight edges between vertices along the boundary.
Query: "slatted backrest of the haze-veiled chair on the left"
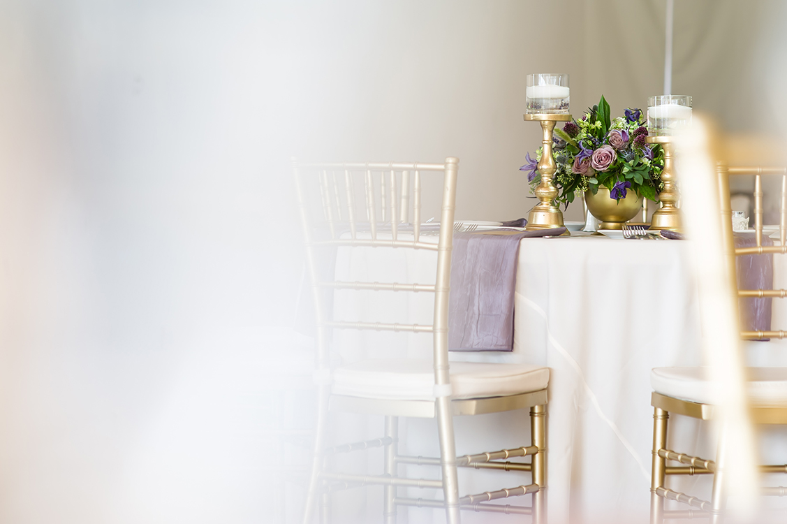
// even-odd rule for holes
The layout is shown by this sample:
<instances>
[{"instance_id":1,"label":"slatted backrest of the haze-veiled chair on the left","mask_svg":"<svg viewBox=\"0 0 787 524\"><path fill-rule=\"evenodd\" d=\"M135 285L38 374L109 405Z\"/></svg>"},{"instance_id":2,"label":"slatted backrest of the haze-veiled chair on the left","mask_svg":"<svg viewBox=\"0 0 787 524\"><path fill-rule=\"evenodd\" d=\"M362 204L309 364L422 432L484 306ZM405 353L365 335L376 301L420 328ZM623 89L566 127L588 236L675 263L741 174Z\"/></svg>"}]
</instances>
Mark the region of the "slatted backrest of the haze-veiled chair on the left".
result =
<instances>
[{"instance_id":1,"label":"slatted backrest of the haze-veiled chair on the left","mask_svg":"<svg viewBox=\"0 0 787 524\"><path fill-rule=\"evenodd\" d=\"M297 197L301 211L307 266L316 304L317 365L330 366L328 339L332 329L371 329L433 333L437 384L449 384L448 309L459 160L444 164L367 162L299 163L293 160ZM422 175L442 174L442 205L437 225L422 225ZM425 231L429 229L429 231ZM438 232L437 243L434 232ZM437 251L434 281L397 283L336 281L331 262L339 248ZM434 293L432 325L390 321L336 321L331 314L333 291L346 289L373 292ZM438 372L439 370L439 372ZM445 371L445 373L443 372Z\"/></svg>"}]
</instances>

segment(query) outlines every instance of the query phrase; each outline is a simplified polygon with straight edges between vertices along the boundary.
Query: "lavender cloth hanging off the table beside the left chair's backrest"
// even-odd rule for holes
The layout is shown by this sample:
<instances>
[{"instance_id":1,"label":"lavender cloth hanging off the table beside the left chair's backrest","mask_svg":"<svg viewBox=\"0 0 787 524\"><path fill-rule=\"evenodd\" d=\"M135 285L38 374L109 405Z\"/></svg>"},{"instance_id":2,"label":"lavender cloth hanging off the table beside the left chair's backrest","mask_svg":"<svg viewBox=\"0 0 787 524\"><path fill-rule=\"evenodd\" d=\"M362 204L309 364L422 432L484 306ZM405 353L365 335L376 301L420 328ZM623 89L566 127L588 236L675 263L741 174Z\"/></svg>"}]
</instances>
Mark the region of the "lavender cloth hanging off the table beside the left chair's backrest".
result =
<instances>
[{"instance_id":1,"label":"lavender cloth hanging off the table beside the left chair's backrest","mask_svg":"<svg viewBox=\"0 0 787 524\"><path fill-rule=\"evenodd\" d=\"M541 231L455 233L449 297L450 351L513 351L519 240Z\"/></svg>"}]
</instances>

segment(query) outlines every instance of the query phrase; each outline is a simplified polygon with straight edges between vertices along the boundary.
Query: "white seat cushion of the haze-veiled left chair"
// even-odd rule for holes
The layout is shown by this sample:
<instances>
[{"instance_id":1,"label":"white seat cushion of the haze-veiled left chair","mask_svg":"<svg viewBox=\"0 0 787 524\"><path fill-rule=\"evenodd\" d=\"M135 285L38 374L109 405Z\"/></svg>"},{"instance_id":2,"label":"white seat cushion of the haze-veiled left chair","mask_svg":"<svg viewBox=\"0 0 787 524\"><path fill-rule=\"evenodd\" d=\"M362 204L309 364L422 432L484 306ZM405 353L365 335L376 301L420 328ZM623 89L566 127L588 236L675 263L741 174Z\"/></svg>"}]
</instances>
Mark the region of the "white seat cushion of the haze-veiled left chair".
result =
<instances>
[{"instance_id":1,"label":"white seat cushion of the haze-veiled left chair","mask_svg":"<svg viewBox=\"0 0 787 524\"><path fill-rule=\"evenodd\" d=\"M335 370L335 395L387 400L434 400L431 360L372 359ZM451 362L453 399L478 399L539 391L549 368L530 364Z\"/></svg>"}]
</instances>

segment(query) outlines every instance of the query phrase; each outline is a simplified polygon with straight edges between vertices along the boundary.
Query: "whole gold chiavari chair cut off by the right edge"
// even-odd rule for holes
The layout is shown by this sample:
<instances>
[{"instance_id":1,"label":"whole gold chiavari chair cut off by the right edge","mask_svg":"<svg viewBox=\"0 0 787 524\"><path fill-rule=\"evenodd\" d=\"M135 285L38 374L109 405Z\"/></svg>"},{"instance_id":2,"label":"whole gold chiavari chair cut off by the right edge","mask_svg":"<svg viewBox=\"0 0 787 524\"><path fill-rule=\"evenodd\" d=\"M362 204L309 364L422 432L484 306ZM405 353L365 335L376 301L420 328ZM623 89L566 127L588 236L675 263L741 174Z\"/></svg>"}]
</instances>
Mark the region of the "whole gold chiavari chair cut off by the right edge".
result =
<instances>
[{"instance_id":1,"label":"whole gold chiavari chair cut off by the right edge","mask_svg":"<svg viewBox=\"0 0 787 524\"><path fill-rule=\"evenodd\" d=\"M755 190L753 195L754 214L755 214L755 245L752 247L735 247L732 212L730 209L730 175L753 175L755 177ZM763 175L781 176L781 217L779 228L780 245L763 241ZM692 173L694 176L694 173ZM714 388L713 377L717 384L719 368L715 370L713 366L706 367L671 367L656 368L652 370L651 385L654 389L652 393L652 406L654 407L653 423L653 448L652 448L652 478L651 478L651 522L663 522L671 518L696 518L707 517L711 522L720 522L725 506L726 484L730 482L730 475L722 478L723 460L729 460L730 453L737 453L739 456L756 456L753 449L734 449L730 451L731 445L725 442L724 433L726 430L738 426L736 430L745 431L748 422L753 424L787 424L787 368L782 367L745 367L745 355L741 351L740 340L737 334L740 333L741 339L746 340L766 340L771 338L785 338L785 331L774 330L751 330L738 327L738 304L740 299L756 298L785 298L787 290L774 289L739 289L736 290L736 259L737 257L762 255L773 256L787 253L785 246L785 236L787 236L787 169L766 168L766 167L727 167L724 162L717 162L715 165L715 177L718 184L718 200L711 203L711 214L707 220L700 219L703 223L695 224L695 232L703 231L710 236L718 233L719 252L708 254L708 257L715 256L718 262L722 278L717 282L719 294L714 297L703 297L703 284L700 282L700 307L714 310L708 307L708 300L720 299L730 305L729 310L733 314L729 318L711 319L710 313L702 313L700 316L708 315L702 319L702 330L704 338L722 340L729 336L730 348L728 357L730 359L717 366L728 366L732 374L741 373L741 387L737 399L730 402L731 392L724 392L726 404L722 407L716 401L719 400L719 392L722 389L734 388L734 384L725 384L722 388ZM689 195L685 195L688 199ZM708 196L708 198L711 198ZM714 215L715 214L715 215ZM721 217L717 220L716 216ZM712 242L711 242L712 244ZM711 246L713 247L713 246ZM710 258L706 259L708 262ZM711 264L713 266L713 264ZM706 268L702 268L705 270ZM708 269L708 270L712 270ZM700 278L701 280L701 278ZM707 289L706 289L707 291ZM735 295L737 292L737 297ZM707 295L707 293L706 293ZM729 297L729 300L726 300ZM704 299L708 299L705 300ZM722 307L723 309L723 307ZM706 346L708 344L706 343ZM723 344L722 344L723 345ZM716 351L718 348L711 344L706 347L706 351ZM722 351L723 352L723 351ZM718 358L718 357L716 357ZM730 362L733 361L733 362ZM717 361L718 362L718 361ZM734 382L734 381L731 381ZM722 402L723 403L723 402ZM730 407L730 404L733 404ZM722 414L722 409L725 413ZM725 418L727 426L722 422L722 439L719 440L716 452L716 459L703 459L700 457L686 455L675 452L667 444L667 422L670 414L680 414L700 420L718 420ZM738 418L733 414L737 414ZM726 428L726 429L725 429ZM742 459L738 459L742 460ZM754 459L752 459L753 461ZM676 466L667 465L668 463L678 463ZM748 467L754 471L757 466L749 462ZM726 466L726 469L729 467ZM787 473L785 465L759 466L762 473ZM676 492L667 488L665 483L667 477L674 475L713 475L713 487L711 489L710 500L703 500L696 496L689 496L682 492ZM753 490L756 486L752 487ZM784 488L765 488L760 491L765 495L780 495L785 493ZM693 509L682 511L665 511L664 501L675 500L680 503L688 504Z\"/></svg>"}]
</instances>

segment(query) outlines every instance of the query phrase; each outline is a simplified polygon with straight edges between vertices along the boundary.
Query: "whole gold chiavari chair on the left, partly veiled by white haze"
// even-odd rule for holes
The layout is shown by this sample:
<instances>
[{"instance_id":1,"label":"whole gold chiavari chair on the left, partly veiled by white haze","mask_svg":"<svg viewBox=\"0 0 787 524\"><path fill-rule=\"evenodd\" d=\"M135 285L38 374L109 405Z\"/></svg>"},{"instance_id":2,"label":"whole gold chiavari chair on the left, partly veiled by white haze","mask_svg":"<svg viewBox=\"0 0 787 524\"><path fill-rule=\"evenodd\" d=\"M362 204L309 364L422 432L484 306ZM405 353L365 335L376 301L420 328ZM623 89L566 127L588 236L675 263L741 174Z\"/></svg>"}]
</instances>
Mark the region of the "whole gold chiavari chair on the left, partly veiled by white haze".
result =
<instances>
[{"instance_id":1,"label":"whole gold chiavari chair on the left, partly veiled by white haze","mask_svg":"<svg viewBox=\"0 0 787 524\"><path fill-rule=\"evenodd\" d=\"M303 164L294 161L316 303L315 378L319 390L316 444L304 522L310 522L318 509L321 520L327 521L331 492L360 485L383 486L384 522L388 524L396 522L398 506L444 507L448 522L452 524L460 522L460 509L532 514L534 522L544 522L545 405L549 368L449 362L449 278L458 162L456 158L446 158L445 164ZM435 175L442 175L440 223L439 226L431 225L427 231L427 226L421 225L422 176ZM309 190L320 194L318 206L309 205ZM437 227L438 236L434 236ZM330 249L436 251L437 271L434 282L429 284L335 281L333 275L320 272L318 251L326 248L328 251L323 251L323 258L331 256ZM368 318L364 321L335 320L331 316L331 293L339 290L374 293L381 301L390 300L393 293L427 293L434 300L433 324L407 325L391 323L390 319L369 321ZM334 330L344 329L427 333L433 339L431 358L361 359L342 362L331 369L331 335ZM529 445L456 456L454 416L523 408L530 408ZM385 434L374 440L327 448L327 421L329 413L334 411L383 415ZM437 418L439 457L407 456L398 452L398 421L403 416ZM382 474L340 473L328 467L331 455L373 447L384 448ZM510 460L516 457L530 457L530 463ZM398 466L405 464L436 466L440 475L438 478L404 478L399 475ZM532 478L529 484L460 496L457 467L530 471ZM400 496L400 488L405 487L440 489L443 500ZM530 507L490 503L490 500L528 493L534 494Z\"/></svg>"}]
</instances>

